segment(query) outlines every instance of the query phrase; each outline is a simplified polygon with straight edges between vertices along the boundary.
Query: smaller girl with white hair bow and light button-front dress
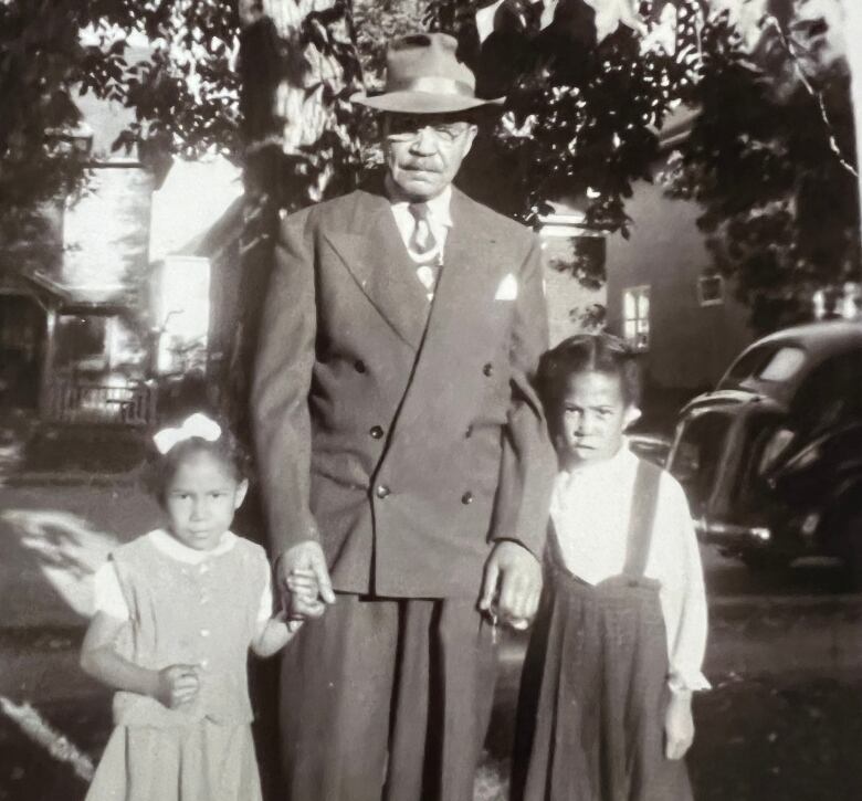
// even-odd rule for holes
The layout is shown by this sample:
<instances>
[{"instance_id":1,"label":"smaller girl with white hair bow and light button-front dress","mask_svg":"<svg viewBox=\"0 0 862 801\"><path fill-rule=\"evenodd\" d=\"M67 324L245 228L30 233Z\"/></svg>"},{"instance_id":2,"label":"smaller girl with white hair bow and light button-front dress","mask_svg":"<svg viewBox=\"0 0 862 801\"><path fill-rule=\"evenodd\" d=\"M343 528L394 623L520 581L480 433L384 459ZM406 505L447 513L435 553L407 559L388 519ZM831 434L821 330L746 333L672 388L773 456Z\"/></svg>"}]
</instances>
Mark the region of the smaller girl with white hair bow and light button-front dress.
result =
<instances>
[{"instance_id":1,"label":"smaller girl with white hair bow and light button-front dress","mask_svg":"<svg viewBox=\"0 0 862 801\"><path fill-rule=\"evenodd\" d=\"M229 432L203 414L154 438L166 527L115 550L95 577L81 665L114 687L115 729L87 801L256 801L248 651L282 649L263 549L230 531L248 489ZM290 584L313 605L314 579Z\"/></svg>"}]
</instances>

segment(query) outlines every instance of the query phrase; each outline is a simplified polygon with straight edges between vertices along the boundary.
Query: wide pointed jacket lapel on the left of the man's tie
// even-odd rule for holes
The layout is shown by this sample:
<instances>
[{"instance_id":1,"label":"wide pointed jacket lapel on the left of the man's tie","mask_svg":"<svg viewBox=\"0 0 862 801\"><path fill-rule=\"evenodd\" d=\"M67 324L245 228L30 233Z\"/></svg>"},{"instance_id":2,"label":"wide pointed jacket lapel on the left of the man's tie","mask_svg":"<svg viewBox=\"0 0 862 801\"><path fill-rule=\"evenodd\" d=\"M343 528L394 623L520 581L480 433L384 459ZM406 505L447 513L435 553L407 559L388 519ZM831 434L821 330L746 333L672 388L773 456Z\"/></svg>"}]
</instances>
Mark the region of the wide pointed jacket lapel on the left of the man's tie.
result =
<instances>
[{"instance_id":1,"label":"wide pointed jacket lapel on the left of the man's tie","mask_svg":"<svg viewBox=\"0 0 862 801\"><path fill-rule=\"evenodd\" d=\"M419 350L428 320L428 299L389 201L366 193L357 203L349 228L324 235L395 333Z\"/></svg>"}]
</instances>

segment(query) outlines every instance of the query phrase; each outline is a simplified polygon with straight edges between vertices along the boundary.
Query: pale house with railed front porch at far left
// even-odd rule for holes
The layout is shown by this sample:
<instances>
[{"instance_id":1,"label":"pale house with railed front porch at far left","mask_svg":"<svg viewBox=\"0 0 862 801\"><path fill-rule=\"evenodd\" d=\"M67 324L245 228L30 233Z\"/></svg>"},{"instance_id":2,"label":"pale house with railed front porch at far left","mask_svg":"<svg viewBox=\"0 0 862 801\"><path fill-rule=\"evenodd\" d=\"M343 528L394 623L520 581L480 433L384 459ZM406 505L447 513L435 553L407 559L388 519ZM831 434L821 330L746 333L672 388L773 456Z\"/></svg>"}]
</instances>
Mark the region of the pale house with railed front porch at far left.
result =
<instances>
[{"instance_id":1,"label":"pale house with railed front porch at far left","mask_svg":"<svg viewBox=\"0 0 862 801\"><path fill-rule=\"evenodd\" d=\"M84 124L70 138L92 159L85 186L0 246L0 400L43 422L143 423L153 175L134 155L105 156L122 109L80 105Z\"/></svg>"}]
</instances>

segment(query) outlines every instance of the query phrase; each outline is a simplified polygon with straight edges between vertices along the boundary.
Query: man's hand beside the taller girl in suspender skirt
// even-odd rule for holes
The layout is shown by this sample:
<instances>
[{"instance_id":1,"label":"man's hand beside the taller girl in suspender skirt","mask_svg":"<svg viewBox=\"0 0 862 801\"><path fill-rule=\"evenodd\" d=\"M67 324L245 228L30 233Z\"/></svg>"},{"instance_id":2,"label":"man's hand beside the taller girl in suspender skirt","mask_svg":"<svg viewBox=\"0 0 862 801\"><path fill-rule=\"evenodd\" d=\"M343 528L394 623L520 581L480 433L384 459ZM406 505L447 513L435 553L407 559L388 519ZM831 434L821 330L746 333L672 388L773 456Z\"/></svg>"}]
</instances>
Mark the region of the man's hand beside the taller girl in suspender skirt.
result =
<instances>
[{"instance_id":1,"label":"man's hand beside the taller girl in suspender skirt","mask_svg":"<svg viewBox=\"0 0 862 801\"><path fill-rule=\"evenodd\" d=\"M492 611L514 629L526 629L538 609L542 565L523 545L504 539L485 562L479 608Z\"/></svg>"}]
</instances>

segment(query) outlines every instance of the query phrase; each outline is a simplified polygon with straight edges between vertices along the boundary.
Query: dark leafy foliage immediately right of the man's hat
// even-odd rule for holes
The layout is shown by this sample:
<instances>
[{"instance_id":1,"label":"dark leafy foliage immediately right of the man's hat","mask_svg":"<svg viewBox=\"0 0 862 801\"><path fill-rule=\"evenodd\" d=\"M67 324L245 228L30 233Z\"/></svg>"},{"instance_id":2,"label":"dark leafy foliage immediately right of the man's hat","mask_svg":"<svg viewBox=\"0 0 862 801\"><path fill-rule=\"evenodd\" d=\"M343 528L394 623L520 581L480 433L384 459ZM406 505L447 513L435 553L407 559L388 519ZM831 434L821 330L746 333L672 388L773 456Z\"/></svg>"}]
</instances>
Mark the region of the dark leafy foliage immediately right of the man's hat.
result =
<instances>
[{"instance_id":1,"label":"dark leafy foliage immediately right of the man's hat","mask_svg":"<svg viewBox=\"0 0 862 801\"><path fill-rule=\"evenodd\" d=\"M705 3L627 2L631 15L599 35L584 0L559 0L544 10L506 0L481 43L474 12L487 3L430 3L429 25L459 36L480 93L505 97L495 157L481 170L494 176L486 202L537 224L553 211L550 201L564 201L584 212L588 228L629 236L632 183L651 180L662 124L691 97L698 77ZM627 2L618 3L620 13ZM666 7L670 18L662 15ZM575 277L587 286L603 283L603 261L586 261Z\"/></svg>"}]
</instances>

